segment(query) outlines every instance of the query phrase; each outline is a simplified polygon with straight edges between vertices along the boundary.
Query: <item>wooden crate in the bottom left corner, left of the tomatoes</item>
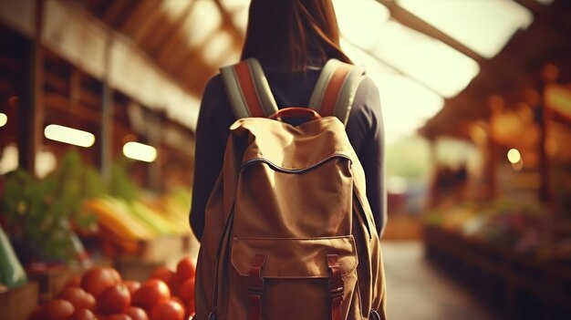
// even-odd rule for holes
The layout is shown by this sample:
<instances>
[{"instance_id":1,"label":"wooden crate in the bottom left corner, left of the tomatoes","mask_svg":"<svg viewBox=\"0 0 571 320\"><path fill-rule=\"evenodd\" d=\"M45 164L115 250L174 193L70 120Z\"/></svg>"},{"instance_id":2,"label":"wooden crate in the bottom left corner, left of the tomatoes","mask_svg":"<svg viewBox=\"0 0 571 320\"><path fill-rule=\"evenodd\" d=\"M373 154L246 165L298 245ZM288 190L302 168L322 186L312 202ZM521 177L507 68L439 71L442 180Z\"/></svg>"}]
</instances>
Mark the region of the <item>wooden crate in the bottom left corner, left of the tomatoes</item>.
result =
<instances>
[{"instance_id":1,"label":"wooden crate in the bottom left corner, left of the tomatoes","mask_svg":"<svg viewBox=\"0 0 571 320\"><path fill-rule=\"evenodd\" d=\"M38 304L35 282L0 293L0 317L3 320L26 320Z\"/></svg>"}]
</instances>

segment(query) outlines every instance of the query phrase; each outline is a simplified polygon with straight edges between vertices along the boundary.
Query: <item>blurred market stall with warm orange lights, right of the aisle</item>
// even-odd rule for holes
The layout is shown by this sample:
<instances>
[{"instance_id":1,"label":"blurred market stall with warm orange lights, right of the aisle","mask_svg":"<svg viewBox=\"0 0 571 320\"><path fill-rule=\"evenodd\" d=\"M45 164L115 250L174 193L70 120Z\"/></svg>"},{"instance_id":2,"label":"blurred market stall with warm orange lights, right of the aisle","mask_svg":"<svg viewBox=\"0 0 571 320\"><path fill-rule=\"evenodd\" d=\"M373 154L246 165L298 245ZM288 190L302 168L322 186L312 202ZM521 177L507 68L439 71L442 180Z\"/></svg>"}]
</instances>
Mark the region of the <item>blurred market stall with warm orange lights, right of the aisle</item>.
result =
<instances>
[{"instance_id":1,"label":"blurred market stall with warm orange lights, right of the aisle","mask_svg":"<svg viewBox=\"0 0 571 320\"><path fill-rule=\"evenodd\" d=\"M506 318L571 315L571 48L566 14L542 18L420 129L427 257Z\"/></svg>"}]
</instances>

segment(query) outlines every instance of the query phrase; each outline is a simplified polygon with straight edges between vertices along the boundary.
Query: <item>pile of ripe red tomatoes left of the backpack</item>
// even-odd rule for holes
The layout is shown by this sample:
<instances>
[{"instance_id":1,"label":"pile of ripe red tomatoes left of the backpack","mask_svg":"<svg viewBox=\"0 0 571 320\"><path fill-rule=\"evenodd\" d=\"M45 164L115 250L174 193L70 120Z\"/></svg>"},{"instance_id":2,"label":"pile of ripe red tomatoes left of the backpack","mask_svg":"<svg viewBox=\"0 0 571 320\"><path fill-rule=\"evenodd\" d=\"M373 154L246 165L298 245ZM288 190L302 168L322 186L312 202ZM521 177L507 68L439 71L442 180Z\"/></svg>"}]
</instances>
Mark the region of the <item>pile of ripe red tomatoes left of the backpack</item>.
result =
<instances>
[{"instance_id":1,"label":"pile of ripe red tomatoes left of the backpack","mask_svg":"<svg viewBox=\"0 0 571 320\"><path fill-rule=\"evenodd\" d=\"M191 258L176 270L158 267L143 282L124 280L113 267L93 267L73 278L56 299L40 305L28 320L184 320L194 314Z\"/></svg>"}]
</instances>

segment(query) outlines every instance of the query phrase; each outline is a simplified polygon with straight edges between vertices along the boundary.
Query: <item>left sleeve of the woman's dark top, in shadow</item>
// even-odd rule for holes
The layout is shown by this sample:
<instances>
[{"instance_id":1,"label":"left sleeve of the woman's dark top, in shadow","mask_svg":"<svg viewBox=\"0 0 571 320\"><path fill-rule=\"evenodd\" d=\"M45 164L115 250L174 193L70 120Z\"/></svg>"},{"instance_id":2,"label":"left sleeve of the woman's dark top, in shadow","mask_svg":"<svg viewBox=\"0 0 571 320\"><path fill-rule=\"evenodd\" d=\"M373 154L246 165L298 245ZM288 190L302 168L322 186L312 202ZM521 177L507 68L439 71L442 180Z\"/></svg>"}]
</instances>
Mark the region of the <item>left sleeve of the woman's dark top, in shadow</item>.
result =
<instances>
[{"instance_id":1,"label":"left sleeve of the woman's dark top, in shadow","mask_svg":"<svg viewBox=\"0 0 571 320\"><path fill-rule=\"evenodd\" d=\"M204 231L204 210L222 169L228 128L234 120L228 106L222 78L213 77L202 94L196 126L190 222L199 241Z\"/></svg>"}]
</instances>

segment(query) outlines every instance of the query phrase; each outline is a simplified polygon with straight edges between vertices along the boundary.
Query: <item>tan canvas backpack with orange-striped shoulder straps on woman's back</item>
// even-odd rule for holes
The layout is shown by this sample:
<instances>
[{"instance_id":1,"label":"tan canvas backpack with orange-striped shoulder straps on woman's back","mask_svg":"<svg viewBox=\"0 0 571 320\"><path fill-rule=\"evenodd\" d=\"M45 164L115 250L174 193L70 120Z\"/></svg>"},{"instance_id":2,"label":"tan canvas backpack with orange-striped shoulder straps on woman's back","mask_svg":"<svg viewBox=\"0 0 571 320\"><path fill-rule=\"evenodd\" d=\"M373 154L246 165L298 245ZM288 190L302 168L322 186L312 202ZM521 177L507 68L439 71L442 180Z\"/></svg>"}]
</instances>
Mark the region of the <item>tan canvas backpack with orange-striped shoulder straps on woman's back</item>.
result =
<instances>
[{"instance_id":1,"label":"tan canvas backpack with orange-striped shoulder straps on woman's back","mask_svg":"<svg viewBox=\"0 0 571 320\"><path fill-rule=\"evenodd\" d=\"M363 70L330 60L309 108L280 110L255 59L221 70L237 120L206 206L195 319L386 319L379 236L344 126Z\"/></svg>"}]
</instances>

